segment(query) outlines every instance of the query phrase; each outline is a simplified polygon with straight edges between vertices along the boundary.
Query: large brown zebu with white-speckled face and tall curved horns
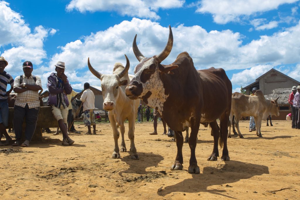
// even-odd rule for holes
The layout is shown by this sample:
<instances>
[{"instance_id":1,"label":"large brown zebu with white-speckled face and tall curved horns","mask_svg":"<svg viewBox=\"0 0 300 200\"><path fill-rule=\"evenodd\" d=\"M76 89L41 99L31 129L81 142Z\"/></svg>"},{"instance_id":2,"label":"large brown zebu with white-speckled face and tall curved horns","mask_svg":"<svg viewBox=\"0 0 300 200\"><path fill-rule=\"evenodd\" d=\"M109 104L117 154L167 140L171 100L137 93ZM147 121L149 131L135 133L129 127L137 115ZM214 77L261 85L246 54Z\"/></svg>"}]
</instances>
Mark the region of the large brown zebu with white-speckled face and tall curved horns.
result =
<instances>
[{"instance_id":1,"label":"large brown zebu with white-speckled face and tall curved horns","mask_svg":"<svg viewBox=\"0 0 300 200\"><path fill-rule=\"evenodd\" d=\"M214 136L214 148L207 160L217 160L218 139L223 145L221 159L229 160L227 149L228 118L231 109L232 85L223 69L196 70L187 52L180 53L170 65L161 62L170 54L173 34L161 54L146 58L133 42L134 54L140 63L135 67L135 76L126 87L131 99L142 99L150 107L158 109L176 134L177 156L171 170L183 169L182 131L191 127L188 140L191 156L189 173L200 173L195 156L196 137L199 125L210 124ZM216 119L220 118L220 132Z\"/></svg>"}]
</instances>

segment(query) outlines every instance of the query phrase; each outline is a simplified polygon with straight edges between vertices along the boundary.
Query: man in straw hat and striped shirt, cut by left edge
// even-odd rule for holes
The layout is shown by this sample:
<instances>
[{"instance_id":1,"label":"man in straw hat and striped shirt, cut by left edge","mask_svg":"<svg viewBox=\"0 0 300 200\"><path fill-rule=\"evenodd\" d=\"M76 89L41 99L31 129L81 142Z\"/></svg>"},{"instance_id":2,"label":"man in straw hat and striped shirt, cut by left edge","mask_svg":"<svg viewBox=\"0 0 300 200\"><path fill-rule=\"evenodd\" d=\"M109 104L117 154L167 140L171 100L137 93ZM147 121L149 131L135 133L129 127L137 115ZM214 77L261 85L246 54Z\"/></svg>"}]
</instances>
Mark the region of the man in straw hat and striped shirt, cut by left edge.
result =
<instances>
[{"instance_id":1,"label":"man in straw hat and striped shirt, cut by left edge","mask_svg":"<svg viewBox=\"0 0 300 200\"><path fill-rule=\"evenodd\" d=\"M0 57L0 146L9 145L12 140L8 135L6 128L8 126L8 103L7 98L9 97L10 92L13 90L13 77L9 73L4 71L5 67L8 65L8 62L1 56ZM7 84L10 84L10 90L6 91ZM2 135L5 136L5 143L1 143Z\"/></svg>"}]
</instances>

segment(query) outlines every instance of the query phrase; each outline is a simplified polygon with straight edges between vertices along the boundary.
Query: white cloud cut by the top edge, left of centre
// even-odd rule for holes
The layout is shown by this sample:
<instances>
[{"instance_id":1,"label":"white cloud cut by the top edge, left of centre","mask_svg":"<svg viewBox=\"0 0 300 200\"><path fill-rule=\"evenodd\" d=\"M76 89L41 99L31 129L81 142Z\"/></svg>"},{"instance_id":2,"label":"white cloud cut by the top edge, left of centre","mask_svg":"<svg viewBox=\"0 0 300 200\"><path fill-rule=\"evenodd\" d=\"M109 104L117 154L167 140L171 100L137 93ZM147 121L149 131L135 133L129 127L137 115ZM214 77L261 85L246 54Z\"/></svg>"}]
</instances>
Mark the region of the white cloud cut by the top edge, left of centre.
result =
<instances>
[{"instance_id":1,"label":"white cloud cut by the top edge, left of centre","mask_svg":"<svg viewBox=\"0 0 300 200\"><path fill-rule=\"evenodd\" d=\"M80 12L116 11L122 16L160 19L156 14L158 9L182 7L184 2L184 0L72 0L66 9L68 11L76 9Z\"/></svg>"}]
</instances>

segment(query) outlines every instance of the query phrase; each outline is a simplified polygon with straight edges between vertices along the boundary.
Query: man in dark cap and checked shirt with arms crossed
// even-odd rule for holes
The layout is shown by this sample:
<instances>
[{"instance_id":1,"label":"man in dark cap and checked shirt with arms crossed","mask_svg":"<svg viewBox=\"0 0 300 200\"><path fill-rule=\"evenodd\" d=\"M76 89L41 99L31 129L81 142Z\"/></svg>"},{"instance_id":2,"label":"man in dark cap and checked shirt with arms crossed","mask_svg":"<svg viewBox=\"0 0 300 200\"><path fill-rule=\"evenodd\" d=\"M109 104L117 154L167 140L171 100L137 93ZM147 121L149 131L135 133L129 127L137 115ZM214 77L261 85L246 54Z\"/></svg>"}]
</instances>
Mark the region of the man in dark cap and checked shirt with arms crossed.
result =
<instances>
[{"instance_id":1,"label":"man in dark cap and checked shirt with arms crossed","mask_svg":"<svg viewBox=\"0 0 300 200\"><path fill-rule=\"evenodd\" d=\"M23 63L24 74L17 76L13 84L13 91L17 93L13 107L13 128L16 135L16 142L13 146L21 145L24 117L26 117L25 142L21 146L28 147L35 133L40 110L38 91L42 89L42 83L40 77L32 75L32 71L32 63L25 61Z\"/></svg>"}]
</instances>

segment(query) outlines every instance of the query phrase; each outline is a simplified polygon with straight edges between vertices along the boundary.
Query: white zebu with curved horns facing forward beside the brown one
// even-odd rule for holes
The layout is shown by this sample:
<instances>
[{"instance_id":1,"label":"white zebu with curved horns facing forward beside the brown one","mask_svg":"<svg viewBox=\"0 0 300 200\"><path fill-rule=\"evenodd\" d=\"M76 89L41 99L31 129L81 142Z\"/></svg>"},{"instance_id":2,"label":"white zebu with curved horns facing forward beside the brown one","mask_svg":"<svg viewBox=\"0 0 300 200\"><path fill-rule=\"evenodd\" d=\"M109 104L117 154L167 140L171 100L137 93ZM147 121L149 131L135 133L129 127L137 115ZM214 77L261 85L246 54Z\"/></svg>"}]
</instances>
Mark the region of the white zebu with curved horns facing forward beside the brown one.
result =
<instances>
[{"instance_id":1,"label":"white zebu with curved horns facing forward beside the brown one","mask_svg":"<svg viewBox=\"0 0 300 200\"><path fill-rule=\"evenodd\" d=\"M120 158L120 151L118 146L118 139L120 133L118 127L120 127L122 142L121 152L126 152L126 146L124 141L125 126L124 121L128 119L128 138L130 139L130 154L131 159L137 160L139 156L137 149L134 145L134 124L137 118L137 109L139 107L140 100L131 100L125 95L125 87L131 81L128 76L129 60L126 57L126 66L121 63L114 65L113 74L101 74L95 70L88 58L88 68L96 77L101 80L101 88L103 95L103 108L108 111L108 118L110 119L110 125L113 128L113 137L115 140L115 149L113 152L113 158Z\"/></svg>"}]
</instances>

